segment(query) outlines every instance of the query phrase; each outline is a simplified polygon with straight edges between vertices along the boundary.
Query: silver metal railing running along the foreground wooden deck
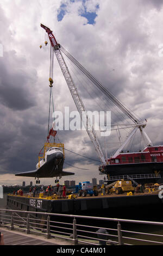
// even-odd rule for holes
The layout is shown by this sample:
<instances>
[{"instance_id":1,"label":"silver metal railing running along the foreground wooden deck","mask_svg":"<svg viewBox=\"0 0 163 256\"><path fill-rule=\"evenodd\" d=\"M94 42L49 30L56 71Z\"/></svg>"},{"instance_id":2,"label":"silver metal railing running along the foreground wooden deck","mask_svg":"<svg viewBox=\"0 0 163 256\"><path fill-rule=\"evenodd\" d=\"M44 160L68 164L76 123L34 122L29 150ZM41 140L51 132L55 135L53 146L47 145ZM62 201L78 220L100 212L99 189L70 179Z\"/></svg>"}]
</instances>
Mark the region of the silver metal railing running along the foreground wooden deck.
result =
<instances>
[{"instance_id":1,"label":"silver metal railing running along the foreground wooden deck","mask_svg":"<svg viewBox=\"0 0 163 256\"><path fill-rule=\"evenodd\" d=\"M0 209L0 226L70 240L73 245L163 245L163 222ZM158 234L149 232L156 226Z\"/></svg>"}]
</instances>

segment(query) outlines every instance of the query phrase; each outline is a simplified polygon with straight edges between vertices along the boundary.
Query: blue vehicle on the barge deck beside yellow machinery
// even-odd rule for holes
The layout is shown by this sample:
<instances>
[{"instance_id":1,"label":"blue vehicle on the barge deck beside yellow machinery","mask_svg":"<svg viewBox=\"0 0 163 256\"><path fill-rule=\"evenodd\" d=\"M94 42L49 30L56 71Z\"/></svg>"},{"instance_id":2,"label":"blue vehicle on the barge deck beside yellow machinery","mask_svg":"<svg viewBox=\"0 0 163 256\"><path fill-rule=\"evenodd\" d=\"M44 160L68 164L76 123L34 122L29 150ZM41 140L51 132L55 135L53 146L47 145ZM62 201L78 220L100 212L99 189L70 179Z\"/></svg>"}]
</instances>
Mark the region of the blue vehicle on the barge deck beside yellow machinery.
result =
<instances>
[{"instance_id":1,"label":"blue vehicle on the barge deck beside yellow machinery","mask_svg":"<svg viewBox=\"0 0 163 256\"><path fill-rule=\"evenodd\" d=\"M98 196L98 191L93 187L90 181L79 182L79 185L76 185L76 191L74 193L78 193L79 197L86 197L87 194L90 196L93 196L93 194L96 197Z\"/></svg>"}]
</instances>

